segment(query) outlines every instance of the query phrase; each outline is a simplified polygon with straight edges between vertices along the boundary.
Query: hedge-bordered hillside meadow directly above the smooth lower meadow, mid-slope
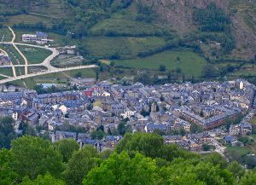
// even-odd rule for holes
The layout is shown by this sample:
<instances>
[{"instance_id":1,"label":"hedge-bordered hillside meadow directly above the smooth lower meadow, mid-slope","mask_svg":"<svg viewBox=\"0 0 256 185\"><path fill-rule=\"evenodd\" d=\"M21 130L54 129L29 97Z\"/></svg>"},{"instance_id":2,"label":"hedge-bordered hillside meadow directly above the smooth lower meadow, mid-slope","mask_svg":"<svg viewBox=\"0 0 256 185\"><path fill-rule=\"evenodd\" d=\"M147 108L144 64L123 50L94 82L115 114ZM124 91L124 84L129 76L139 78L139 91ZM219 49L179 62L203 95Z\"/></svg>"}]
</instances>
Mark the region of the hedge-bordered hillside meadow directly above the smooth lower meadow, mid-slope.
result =
<instances>
[{"instance_id":1,"label":"hedge-bordered hillside meadow directly above the smooth lower meadow, mid-slope","mask_svg":"<svg viewBox=\"0 0 256 185\"><path fill-rule=\"evenodd\" d=\"M107 58L119 55L123 58L136 57L138 53L157 49L166 44L163 38L84 38L83 44L90 56Z\"/></svg>"}]
</instances>

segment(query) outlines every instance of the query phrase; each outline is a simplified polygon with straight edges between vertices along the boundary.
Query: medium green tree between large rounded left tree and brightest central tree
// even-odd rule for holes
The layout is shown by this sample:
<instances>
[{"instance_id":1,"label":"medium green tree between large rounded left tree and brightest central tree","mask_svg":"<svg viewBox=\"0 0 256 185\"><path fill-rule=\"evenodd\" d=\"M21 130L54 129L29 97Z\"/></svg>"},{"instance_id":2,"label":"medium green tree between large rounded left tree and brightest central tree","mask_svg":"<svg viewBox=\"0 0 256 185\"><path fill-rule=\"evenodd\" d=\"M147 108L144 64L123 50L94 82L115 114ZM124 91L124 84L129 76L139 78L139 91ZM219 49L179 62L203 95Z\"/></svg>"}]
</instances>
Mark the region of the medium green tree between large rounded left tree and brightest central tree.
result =
<instances>
[{"instance_id":1,"label":"medium green tree between large rounded left tree and brightest central tree","mask_svg":"<svg viewBox=\"0 0 256 185\"><path fill-rule=\"evenodd\" d=\"M67 169L64 176L67 185L82 184L84 177L88 172L99 165L102 159L96 149L91 146L85 146L81 150L73 153L67 163Z\"/></svg>"}]
</instances>

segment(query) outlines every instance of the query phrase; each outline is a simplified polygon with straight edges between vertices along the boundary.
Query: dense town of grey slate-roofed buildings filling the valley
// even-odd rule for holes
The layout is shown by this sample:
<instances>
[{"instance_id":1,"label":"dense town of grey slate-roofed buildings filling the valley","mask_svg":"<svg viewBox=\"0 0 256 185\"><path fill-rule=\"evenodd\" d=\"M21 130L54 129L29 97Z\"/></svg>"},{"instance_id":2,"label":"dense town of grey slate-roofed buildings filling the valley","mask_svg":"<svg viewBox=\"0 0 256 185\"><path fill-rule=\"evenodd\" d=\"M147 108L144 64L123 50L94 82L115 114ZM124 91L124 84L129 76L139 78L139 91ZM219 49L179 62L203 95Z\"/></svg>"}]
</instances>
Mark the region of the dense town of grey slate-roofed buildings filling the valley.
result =
<instances>
[{"instance_id":1,"label":"dense town of grey slate-roofed buildings filling the valley","mask_svg":"<svg viewBox=\"0 0 256 185\"><path fill-rule=\"evenodd\" d=\"M25 123L40 128L39 134L47 132L52 142L73 138L99 152L115 147L125 132L148 132L164 136L166 144L224 155L222 143L241 145L238 136L255 132L249 123L255 90L243 79L154 86L105 81L42 95L12 90L0 94L0 116L15 119L18 133Z\"/></svg>"}]
</instances>

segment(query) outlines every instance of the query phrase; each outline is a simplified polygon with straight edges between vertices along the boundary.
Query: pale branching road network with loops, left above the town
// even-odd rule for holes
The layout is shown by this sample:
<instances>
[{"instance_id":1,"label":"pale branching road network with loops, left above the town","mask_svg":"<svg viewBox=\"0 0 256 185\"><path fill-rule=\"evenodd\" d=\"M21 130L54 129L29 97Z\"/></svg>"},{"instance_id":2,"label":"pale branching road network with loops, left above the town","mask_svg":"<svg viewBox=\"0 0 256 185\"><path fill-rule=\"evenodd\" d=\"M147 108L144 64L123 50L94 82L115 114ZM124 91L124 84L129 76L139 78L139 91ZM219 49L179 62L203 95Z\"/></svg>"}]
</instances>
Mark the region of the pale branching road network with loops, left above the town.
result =
<instances>
[{"instance_id":1,"label":"pale branching road network with loops, left above the town","mask_svg":"<svg viewBox=\"0 0 256 185\"><path fill-rule=\"evenodd\" d=\"M11 63L11 65L7 65L7 66L0 66L1 68L6 68L6 67L11 67L13 70L13 74L14 77L9 77L6 79L2 79L0 80L0 84L4 84L7 82L12 82L18 79L24 79L24 78L31 78L31 77L36 77L36 76L40 76L40 75L44 75L44 74L49 74L49 73L54 73L54 72L66 72L66 71L70 71L70 70L76 70L76 69L86 69L86 68L95 68L97 67L96 65L87 65L87 66L72 66L72 67L66 67L66 68L56 68L55 66L51 66L50 62L57 56L59 55L59 51L55 48L49 48L49 47L43 47L43 46L38 46L38 45L33 45L33 44L28 44L28 43L15 43L15 32L13 31L12 28L9 27L9 31L12 32L13 34L13 38L11 40L11 42L0 42L0 44L11 44L14 46L14 48L19 52L19 54L21 55L21 57L24 59L25 64L24 65L13 65L13 63ZM41 49L49 49L52 54L49 55L42 63L40 64L28 64L28 61L26 59L26 56L22 54L22 52L20 51L20 49L17 47L17 45L21 45L21 46L29 46L29 47L34 47L34 48L41 48ZM4 53L6 53L4 50L2 50ZM6 53L7 54L7 53ZM24 66L25 68L25 74L24 75L20 75L17 76L16 72L15 72L15 66ZM36 72L36 73L28 73L27 67L28 66L45 66L47 68L47 71L41 71L41 72ZM1 75L3 77L8 77L6 75Z\"/></svg>"}]
</instances>

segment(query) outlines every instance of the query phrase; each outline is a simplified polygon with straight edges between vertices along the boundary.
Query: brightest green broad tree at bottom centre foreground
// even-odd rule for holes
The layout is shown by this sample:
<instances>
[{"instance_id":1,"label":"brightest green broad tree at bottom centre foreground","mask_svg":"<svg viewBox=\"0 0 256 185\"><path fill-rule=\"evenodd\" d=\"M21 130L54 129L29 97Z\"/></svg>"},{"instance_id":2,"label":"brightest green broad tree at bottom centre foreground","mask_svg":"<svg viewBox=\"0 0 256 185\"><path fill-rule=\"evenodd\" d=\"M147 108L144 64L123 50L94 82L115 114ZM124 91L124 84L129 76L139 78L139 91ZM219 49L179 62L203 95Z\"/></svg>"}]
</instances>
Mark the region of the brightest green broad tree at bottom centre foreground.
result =
<instances>
[{"instance_id":1,"label":"brightest green broad tree at bottom centre foreground","mask_svg":"<svg viewBox=\"0 0 256 185\"><path fill-rule=\"evenodd\" d=\"M131 159L128 153L113 153L102 165L92 169L84 178L84 185L92 184L155 184L155 161L136 153ZM136 172L137 171L137 172ZM138 172L139 171L139 172Z\"/></svg>"}]
</instances>

